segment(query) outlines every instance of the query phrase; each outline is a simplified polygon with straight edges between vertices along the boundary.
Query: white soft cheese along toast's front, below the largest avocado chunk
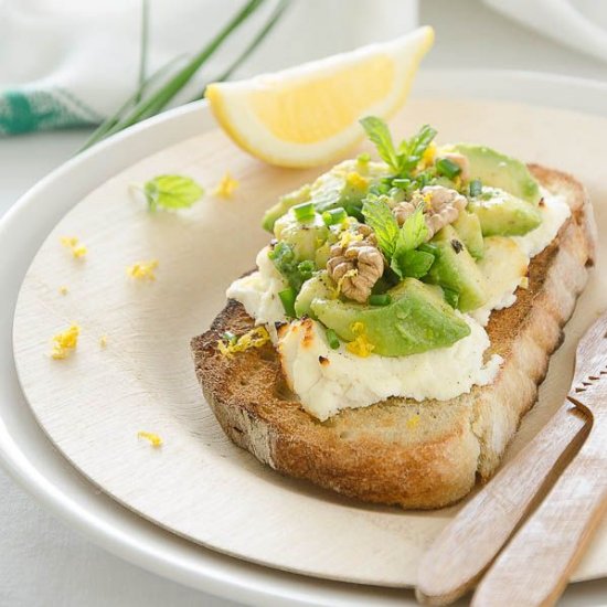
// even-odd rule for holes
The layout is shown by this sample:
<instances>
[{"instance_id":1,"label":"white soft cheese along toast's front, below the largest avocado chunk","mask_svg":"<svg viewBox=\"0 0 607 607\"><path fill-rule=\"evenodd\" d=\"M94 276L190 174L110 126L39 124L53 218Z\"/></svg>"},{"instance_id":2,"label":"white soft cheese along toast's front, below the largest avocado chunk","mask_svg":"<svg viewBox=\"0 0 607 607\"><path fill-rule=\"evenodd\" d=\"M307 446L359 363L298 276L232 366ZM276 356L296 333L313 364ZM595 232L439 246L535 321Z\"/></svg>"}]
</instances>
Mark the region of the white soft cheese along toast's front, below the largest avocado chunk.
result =
<instances>
[{"instance_id":1,"label":"white soft cheese along toast's front, below the largest avocado chunk","mask_svg":"<svg viewBox=\"0 0 607 607\"><path fill-rule=\"evenodd\" d=\"M311 319L285 326L278 352L289 387L302 407L321 422L343 408L365 407L390 396L447 401L493 381L502 362L494 354L483 363L489 337L462 315L470 334L449 348L408 356L370 354L361 359L342 344L331 350L324 329ZM440 370L440 381L437 380Z\"/></svg>"}]
</instances>

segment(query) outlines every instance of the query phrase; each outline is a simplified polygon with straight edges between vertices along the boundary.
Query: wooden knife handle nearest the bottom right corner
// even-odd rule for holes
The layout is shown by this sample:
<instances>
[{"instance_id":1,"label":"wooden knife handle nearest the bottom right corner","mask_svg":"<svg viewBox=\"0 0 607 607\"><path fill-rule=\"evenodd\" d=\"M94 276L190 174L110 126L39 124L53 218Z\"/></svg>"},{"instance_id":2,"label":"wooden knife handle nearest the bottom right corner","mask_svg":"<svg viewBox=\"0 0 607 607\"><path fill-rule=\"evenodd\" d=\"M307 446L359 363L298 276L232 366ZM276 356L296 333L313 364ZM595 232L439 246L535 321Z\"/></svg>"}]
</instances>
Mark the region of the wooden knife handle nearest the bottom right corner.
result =
<instances>
[{"instance_id":1,"label":"wooden knife handle nearest the bottom right corner","mask_svg":"<svg viewBox=\"0 0 607 607\"><path fill-rule=\"evenodd\" d=\"M593 427L573 462L481 581L473 606L556 603L607 510L605 439L606 433Z\"/></svg>"}]
</instances>

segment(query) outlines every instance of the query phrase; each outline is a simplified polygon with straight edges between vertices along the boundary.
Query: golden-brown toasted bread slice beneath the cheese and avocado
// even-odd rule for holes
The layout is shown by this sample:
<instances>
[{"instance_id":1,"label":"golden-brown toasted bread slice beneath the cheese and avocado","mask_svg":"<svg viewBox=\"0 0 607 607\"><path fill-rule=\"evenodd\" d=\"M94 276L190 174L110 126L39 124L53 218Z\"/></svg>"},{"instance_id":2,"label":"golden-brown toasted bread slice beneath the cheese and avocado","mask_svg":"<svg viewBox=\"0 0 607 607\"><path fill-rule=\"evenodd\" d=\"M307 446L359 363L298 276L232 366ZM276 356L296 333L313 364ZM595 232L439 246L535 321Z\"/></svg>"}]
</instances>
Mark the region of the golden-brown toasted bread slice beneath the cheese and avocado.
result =
<instances>
[{"instance_id":1,"label":"golden-brown toasted bread slice beneath the cheese and avocado","mask_svg":"<svg viewBox=\"0 0 607 607\"><path fill-rule=\"evenodd\" d=\"M253 319L230 300L211 329L192 340L198 379L227 436L275 470L368 502L430 509L465 497L498 467L521 417L534 404L551 353L595 258L595 224L573 177L530 164L572 215L529 268L529 288L494 311L491 352L504 363L489 386L446 402L388 398L344 409L324 423L289 391L271 344L226 358L222 333L249 330ZM419 414L415 427L412 417Z\"/></svg>"}]
</instances>

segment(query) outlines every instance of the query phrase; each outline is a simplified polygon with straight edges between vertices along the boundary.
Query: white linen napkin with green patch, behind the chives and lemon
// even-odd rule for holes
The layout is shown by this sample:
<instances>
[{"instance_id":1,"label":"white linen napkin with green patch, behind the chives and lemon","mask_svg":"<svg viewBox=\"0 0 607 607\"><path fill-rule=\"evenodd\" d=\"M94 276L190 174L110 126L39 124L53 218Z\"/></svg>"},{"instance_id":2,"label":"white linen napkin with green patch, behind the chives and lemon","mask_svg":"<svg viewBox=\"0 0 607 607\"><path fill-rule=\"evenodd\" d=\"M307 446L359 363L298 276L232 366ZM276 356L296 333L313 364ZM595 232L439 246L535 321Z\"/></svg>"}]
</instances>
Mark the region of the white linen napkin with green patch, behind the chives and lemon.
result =
<instances>
[{"instance_id":1,"label":"white linen napkin with green patch, behind the chives and lemon","mask_svg":"<svg viewBox=\"0 0 607 607\"><path fill-rule=\"evenodd\" d=\"M201 49L245 0L150 0L148 75ZM175 104L201 94L276 6L266 2ZM416 25L416 0L296 0L235 77L295 65ZM0 135L100 123L137 89L140 0L0 0ZM174 105L174 104L173 104Z\"/></svg>"}]
</instances>

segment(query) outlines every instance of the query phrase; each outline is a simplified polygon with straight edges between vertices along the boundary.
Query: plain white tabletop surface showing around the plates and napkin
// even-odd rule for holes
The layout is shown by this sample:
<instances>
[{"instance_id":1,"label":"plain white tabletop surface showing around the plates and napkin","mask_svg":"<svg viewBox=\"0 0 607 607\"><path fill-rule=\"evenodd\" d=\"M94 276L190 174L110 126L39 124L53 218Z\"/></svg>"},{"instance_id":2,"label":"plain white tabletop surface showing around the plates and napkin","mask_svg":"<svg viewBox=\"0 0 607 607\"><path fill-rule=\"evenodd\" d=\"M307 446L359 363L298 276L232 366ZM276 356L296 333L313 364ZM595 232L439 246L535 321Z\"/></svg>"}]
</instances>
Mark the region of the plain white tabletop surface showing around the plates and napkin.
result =
<instances>
[{"instance_id":1,"label":"plain white tabletop surface showing around the plates and napkin","mask_svg":"<svg viewBox=\"0 0 607 607\"><path fill-rule=\"evenodd\" d=\"M519 68L607 79L607 64L543 40L477 0L423 0L419 12L419 22L433 24L437 33L425 66ZM0 139L0 214L85 138L86 131L68 131ZM563 604L607 604L605 583L585 584L584 590L575 597L567 593ZM234 604L168 582L106 553L42 510L0 470L0 607L45 605Z\"/></svg>"}]
</instances>

